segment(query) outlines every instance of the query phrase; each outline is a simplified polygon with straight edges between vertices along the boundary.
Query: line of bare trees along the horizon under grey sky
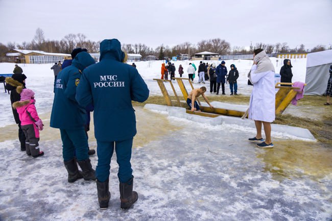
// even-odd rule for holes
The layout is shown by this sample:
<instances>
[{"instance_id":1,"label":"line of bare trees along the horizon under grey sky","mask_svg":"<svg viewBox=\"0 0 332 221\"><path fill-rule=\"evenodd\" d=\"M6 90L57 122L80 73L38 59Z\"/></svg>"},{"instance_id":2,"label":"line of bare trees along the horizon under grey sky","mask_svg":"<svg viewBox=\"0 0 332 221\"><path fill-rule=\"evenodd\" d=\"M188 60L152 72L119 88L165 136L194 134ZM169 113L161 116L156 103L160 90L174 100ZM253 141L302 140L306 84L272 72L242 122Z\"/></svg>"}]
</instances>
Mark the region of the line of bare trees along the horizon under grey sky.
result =
<instances>
[{"instance_id":1,"label":"line of bare trees along the horizon under grey sky","mask_svg":"<svg viewBox=\"0 0 332 221\"><path fill-rule=\"evenodd\" d=\"M121 40L121 39L120 39ZM6 44L0 43L0 54L7 51L16 49L25 50L38 50L50 53L65 53L70 54L76 47L87 48L89 53L99 52L100 41L90 41L86 39L84 34L68 34L64 36L60 41L58 40L46 40L42 29L38 28L36 34L31 42L22 42L22 44L16 44L15 42L9 42ZM324 45L317 45L310 51L305 50L304 44L299 44L299 47L290 48L286 42L284 43L255 43L250 45L249 50L241 47L234 46L231 48L230 43L220 38L202 40L197 44L191 42L184 42L176 46L170 47L168 45L161 44L156 48L147 46L146 44L122 44L122 49L130 54L140 54L143 57L148 55L157 56L159 59L164 57L173 57L180 54L193 55L198 52L213 52L220 55L234 55L234 54L252 54L254 48L263 48L267 54L273 53L308 53L325 51L327 48Z\"/></svg>"}]
</instances>

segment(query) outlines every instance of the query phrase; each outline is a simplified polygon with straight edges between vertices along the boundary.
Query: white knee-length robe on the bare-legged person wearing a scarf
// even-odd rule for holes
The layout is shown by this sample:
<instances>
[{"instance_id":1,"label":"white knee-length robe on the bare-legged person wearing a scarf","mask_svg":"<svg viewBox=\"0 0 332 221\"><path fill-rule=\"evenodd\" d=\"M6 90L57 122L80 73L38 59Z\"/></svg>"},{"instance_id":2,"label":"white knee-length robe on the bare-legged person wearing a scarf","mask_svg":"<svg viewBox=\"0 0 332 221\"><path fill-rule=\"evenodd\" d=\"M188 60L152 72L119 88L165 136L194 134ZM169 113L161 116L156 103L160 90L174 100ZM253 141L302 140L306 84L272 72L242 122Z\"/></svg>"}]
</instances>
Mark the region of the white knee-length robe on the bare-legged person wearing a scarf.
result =
<instances>
[{"instance_id":1,"label":"white knee-length robe on the bare-legged person wearing a scarf","mask_svg":"<svg viewBox=\"0 0 332 221\"><path fill-rule=\"evenodd\" d=\"M249 119L273 122L275 119L274 71L255 73L257 65L251 67L253 89L250 95Z\"/></svg>"}]
</instances>

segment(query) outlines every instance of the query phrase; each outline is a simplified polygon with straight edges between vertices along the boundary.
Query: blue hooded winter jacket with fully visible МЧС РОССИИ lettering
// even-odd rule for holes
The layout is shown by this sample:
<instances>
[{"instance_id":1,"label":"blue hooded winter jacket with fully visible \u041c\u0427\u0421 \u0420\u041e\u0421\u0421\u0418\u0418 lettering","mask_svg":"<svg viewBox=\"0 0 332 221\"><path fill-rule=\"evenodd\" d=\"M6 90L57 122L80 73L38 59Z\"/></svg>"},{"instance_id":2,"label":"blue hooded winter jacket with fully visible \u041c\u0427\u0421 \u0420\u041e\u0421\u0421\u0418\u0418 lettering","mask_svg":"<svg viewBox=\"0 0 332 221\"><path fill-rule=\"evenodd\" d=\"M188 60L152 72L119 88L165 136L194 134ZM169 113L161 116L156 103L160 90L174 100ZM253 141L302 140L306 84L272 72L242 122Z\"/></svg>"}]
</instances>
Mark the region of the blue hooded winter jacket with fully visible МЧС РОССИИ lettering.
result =
<instances>
[{"instance_id":1,"label":"blue hooded winter jacket with fully visible \u041c\u0427\u0421 \u0420\u041e\u0421\u0421\u0418\u0418 lettering","mask_svg":"<svg viewBox=\"0 0 332 221\"><path fill-rule=\"evenodd\" d=\"M94 136L99 141L121 141L136 134L136 118L131 101L144 102L149 89L137 69L122 63L125 54L120 41L100 43L100 62L89 66L77 88L81 106L94 106Z\"/></svg>"}]
</instances>

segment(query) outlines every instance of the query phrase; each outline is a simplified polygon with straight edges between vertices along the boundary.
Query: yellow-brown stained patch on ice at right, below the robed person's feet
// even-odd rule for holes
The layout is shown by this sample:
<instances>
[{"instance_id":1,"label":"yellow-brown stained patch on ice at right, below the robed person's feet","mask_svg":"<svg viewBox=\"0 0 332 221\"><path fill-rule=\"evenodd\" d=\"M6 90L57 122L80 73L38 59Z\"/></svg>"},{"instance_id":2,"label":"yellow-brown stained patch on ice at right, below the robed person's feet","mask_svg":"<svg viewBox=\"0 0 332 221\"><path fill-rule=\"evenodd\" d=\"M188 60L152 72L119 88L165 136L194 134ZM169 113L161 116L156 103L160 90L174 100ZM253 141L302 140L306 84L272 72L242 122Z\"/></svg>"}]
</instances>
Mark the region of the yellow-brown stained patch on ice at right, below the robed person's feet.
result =
<instances>
[{"instance_id":1,"label":"yellow-brown stained patch on ice at right, below the robed person's feet","mask_svg":"<svg viewBox=\"0 0 332 221\"><path fill-rule=\"evenodd\" d=\"M332 149L319 142L279 140L275 148L261 150L257 158L265 162L265 171L270 171L275 180L309 176L319 180L332 176Z\"/></svg>"}]
</instances>

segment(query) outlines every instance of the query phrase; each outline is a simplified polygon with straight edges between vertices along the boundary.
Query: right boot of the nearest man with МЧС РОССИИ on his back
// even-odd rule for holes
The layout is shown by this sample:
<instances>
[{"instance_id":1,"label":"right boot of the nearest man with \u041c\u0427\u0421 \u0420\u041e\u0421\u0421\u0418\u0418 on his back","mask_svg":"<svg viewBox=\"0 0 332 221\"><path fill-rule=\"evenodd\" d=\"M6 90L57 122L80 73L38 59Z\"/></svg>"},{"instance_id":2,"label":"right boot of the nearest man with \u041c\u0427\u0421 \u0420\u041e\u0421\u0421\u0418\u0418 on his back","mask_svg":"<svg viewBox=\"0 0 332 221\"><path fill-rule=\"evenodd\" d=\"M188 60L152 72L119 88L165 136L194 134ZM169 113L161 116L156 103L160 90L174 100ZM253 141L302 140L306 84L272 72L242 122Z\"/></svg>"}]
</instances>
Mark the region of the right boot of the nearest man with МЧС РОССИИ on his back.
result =
<instances>
[{"instance_id":1,"label":"right boot of the nearest man with \u041c\u0427\u0421 \u0420\u041e\u0421\u0421\u0418\u0418 on his back","mask_svg":"<svg viewBox=\"0 0 332 221\"><path fill-rule=\"evenodd\" d=\"M132 177L127 183L120 183L120 200L121 209L126 210L133 205L137 199L138 194L133 191L134 177Z\"/></svg>"}]
</instances>

